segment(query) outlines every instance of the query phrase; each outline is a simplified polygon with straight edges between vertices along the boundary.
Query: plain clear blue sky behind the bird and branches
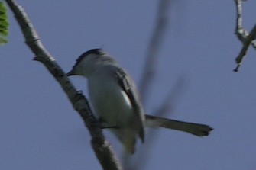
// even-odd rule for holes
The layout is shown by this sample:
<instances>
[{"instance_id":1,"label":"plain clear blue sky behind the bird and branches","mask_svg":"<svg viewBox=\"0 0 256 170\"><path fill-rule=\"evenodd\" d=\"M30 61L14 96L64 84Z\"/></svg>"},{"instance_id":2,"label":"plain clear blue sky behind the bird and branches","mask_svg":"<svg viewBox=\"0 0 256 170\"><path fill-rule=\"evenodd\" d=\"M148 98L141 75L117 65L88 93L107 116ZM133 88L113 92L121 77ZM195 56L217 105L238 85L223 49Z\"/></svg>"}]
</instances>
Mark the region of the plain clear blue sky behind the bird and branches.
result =
<instances>
[{"instance_id":1,"label":"plain clear blue sky behind the bird and branches","mask_svg":"<svg viewBox=\"0 0 256 170\"><path fill-rule=\"evenodd\" d=\"M154 30L158 1L25 1L44 46L70 71L77 57L102 47L135 82ZM244 2L244 26L255 24L255 1ZM256 58L250 49L239 72L233 1L176 1L156 64L157 77L144 105L148 114L181 80L165 117L214 128L206 137L157 129L138 144L147 150L141 169L252 170L256 168ZM0 47L0 168L101 169L79 114L47 69L33 61L9 11L8 43ZM86 79L71 79L86 91ZM105 132L115 152L120 143ZM151 143L150 146L147 143ZM139 160L140 161L140 160Z\"/></svg>"}]
</instances>

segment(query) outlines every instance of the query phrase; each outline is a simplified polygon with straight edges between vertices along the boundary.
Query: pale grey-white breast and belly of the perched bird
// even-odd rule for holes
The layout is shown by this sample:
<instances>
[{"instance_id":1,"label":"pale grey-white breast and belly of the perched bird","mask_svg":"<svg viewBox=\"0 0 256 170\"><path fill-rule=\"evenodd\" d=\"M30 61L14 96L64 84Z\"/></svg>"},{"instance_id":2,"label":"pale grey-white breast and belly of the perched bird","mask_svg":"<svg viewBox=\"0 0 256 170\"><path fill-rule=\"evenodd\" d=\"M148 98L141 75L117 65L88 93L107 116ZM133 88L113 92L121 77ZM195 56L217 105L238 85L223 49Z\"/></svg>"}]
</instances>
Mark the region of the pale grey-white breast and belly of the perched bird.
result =
<instances>
[{"instance_id":1,"label":"pale grey-white breast and belly of the perched bird","mask_svg":"<svg viewBox=\"0 0 256 170\"><path fill-rule=\"evenodd\" d=\"M89 79L89 98L96 115L109 126L128 126L134 115L128 95L115 79Z\"/></svg>"}]
</instances>

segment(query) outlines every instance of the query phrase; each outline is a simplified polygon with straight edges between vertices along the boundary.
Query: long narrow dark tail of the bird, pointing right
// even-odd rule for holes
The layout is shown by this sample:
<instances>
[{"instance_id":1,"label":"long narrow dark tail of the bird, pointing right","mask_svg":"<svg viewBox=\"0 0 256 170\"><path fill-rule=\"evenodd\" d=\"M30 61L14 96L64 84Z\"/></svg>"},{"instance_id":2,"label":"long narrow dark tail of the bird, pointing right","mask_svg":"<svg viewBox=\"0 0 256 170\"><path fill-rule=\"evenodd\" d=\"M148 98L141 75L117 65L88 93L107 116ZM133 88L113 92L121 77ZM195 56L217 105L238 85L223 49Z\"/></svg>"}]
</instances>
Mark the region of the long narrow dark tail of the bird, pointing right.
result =
<instances>
[{"instance_id":1,"label":"long narrow dark tail of the bird, pointing right","mask_svg":"<svg viewBox=\"0 0 256 170\"><path fill-rule=\"evenodd\" d=\"M213 130L206 124L189 123L179 120L171 120L163 117L155 117L146 114L147 127L165 127L173 130L180 130L183 132L191 133L196 136L207 136Z\"/></svg>"}]
</instances>

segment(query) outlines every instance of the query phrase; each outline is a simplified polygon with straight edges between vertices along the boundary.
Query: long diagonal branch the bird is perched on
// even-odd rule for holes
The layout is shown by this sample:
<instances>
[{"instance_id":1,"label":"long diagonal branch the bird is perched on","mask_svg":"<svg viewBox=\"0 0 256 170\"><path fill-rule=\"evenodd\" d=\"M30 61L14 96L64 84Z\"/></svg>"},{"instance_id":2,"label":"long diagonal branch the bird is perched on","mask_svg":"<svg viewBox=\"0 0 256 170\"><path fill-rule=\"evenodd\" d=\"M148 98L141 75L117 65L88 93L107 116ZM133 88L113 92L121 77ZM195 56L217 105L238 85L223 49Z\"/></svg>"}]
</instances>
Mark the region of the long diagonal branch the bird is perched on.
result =
<instances>
[{"instance_id":1,"label":"long diagonal branch the bird is perched on","mask_svg":"<svg viewBox=\"0 0 256 170\"><path fill-rule=\"evenodd\" d=\"M24 9L21 6L18 6L15 0L5 1L11 8L11 11L15 14L15 18L24 34L25 42L35 54L34 60L40 61L44 64L57 82L60 83L63 91L65 91L70 102L73 104L74 109L78 111L80 116L83 118L83 121L92 136L92 148L96 153L102 168L116 170L122 169L122 166L118 162L118 159L112 150L112 146L110 146L110 143L105 140L105 136L102 134L102 129L99 126L98 121L93 117L92 111L90 110L89 104L84 95L76 91L76 88L71 84L70 79L66 77L65 72L63 72L53 56L51 56L44 48Z\"/></svg>"}]
</instances>

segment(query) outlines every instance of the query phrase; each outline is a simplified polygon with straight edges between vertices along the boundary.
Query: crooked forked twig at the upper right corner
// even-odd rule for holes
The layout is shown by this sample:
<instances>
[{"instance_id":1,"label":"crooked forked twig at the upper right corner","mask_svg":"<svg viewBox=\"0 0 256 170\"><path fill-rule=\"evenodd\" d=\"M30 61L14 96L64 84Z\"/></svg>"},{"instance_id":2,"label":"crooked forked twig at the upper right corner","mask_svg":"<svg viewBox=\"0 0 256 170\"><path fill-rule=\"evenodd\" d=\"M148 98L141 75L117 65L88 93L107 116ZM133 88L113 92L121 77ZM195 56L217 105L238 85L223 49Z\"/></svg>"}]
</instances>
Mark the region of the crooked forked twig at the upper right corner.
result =
<instances>
[{"instance_id":1,"label":"crooked forked twig at the upper right corner","mask_svg":"<svg viewBox=\"0 0 256 170\"><path fill-rule=\"evenodd\" d=\"M240 40L241 43L243 43L243 47L241 48L240 53L235 59L235 62L238 65L234 69L234 72L238 72L238 69L241 66L243 59L245 59L245 55L248 51L249 46L251 45L256 50L256 41L254 41L255 35L256 35L256 24L251 29L250 33L248 33L248 31L245 30L245 28L242 26L241 2L242 0L235 0L236 12L237 12L235 34L237 35L238 40Z\"/></svg>"}]
</instances>

